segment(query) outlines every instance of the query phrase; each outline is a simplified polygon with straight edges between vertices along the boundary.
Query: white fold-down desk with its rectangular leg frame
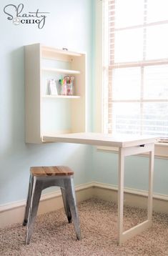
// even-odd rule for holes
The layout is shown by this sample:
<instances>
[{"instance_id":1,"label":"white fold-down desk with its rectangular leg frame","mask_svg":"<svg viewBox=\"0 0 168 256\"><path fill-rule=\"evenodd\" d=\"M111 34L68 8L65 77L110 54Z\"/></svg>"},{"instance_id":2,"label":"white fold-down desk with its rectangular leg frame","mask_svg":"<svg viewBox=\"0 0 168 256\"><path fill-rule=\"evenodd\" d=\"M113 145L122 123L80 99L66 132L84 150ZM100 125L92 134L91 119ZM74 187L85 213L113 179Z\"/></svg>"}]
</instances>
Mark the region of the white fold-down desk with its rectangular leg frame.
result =
<instances>
[{"instance_id":1,"label":"white fold-down desk with its rectangular leg frame","mask_svg":"<svg viewBox=\"0 0 168 256\"><path fill-rule=\"evenodd\" d=\"M69 142L78 144L91 144L97 146L119 147L118 167L118 242L119 245L127 239L139 234L152 225L152 187L154 171L154 142L157 137L119 136L98 133L52 134L43 137L44 142ZM124 203L124 157L149 152L149 192L147 220L123 232L123 203Z\"/></svg>"}]
</instances>

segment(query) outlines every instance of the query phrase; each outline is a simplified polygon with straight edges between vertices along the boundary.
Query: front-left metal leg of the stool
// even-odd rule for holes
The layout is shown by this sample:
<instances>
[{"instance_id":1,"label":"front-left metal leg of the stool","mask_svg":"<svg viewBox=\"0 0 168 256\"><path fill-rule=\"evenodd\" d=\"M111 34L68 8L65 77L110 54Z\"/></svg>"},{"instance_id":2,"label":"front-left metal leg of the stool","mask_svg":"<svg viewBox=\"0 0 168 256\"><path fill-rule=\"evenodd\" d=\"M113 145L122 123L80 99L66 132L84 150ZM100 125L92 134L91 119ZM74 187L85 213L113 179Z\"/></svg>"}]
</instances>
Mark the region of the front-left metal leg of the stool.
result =
<instances>
[{"instance_id":1,"label":"front-left metal leg of the stool","mask_svg":"<svg viewBox=\"0 0 168 256\"><path fill-rule=\"evenodd\" d=\"M36 219L36 213L39 207L39 200L41 197L41 182L34 177L33 179L33 186L32 186L32 194L31 194L31 202L29 208L29 218L28 218L28 226L26 232L26 245L29 245L31 240L31 235L33 234L34 230L34 222Z\"/></svg>"}]
</instances>

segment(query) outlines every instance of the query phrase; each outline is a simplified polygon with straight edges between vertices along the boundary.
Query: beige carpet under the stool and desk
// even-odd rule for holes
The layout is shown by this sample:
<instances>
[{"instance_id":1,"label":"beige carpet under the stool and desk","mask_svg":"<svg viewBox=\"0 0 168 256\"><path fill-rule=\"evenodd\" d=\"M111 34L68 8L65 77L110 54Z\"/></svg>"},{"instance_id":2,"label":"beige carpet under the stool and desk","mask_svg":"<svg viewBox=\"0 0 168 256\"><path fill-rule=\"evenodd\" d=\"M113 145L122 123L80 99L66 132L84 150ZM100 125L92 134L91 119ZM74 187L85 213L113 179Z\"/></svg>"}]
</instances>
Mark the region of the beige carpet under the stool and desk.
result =
<instances>
[{"instance_id":1,"label":"beige carpet under the stool and desk","mask_svg":"<svg viewBox=\"0 0 168 256\"><path fill-rule=\"evenodd\" d=\"M147 212L124 207L124 228L146 219ZM79 204L82 240L77 241L64 210L36 220L30 245L24 245L26 227L12 225L0 230L0 255L168 255L168 215L154 213L152 228L117 246L117 205L101 200Z\"/></svg>"}]
</instances>

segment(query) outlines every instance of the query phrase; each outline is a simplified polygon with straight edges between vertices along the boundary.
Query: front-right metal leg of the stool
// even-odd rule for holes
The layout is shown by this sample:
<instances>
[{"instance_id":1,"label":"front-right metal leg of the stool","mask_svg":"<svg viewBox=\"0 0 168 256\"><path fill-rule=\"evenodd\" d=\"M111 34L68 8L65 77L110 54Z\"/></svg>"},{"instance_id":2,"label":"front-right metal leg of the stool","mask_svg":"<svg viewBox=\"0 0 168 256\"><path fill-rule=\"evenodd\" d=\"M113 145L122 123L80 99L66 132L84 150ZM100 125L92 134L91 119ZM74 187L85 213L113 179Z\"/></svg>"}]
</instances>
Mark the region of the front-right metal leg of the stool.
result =
<instances>
[{"instance_id":1,"label":"front-right metal leg of the stool","mask_svg":"<svg viewBox=\"0 0 168 256\"><path fill-rule=\"evenodd\" d=\"M64 186L66 189L66 196L69 203L69 208L71 211L72 221L74 223L74 228L76 231L76 237L78 240L81 240L81 230L79 224L79 215L76 207L76 197L74 191L74 180L73 177L64 180Z\"/></svg>"}]
</instances>

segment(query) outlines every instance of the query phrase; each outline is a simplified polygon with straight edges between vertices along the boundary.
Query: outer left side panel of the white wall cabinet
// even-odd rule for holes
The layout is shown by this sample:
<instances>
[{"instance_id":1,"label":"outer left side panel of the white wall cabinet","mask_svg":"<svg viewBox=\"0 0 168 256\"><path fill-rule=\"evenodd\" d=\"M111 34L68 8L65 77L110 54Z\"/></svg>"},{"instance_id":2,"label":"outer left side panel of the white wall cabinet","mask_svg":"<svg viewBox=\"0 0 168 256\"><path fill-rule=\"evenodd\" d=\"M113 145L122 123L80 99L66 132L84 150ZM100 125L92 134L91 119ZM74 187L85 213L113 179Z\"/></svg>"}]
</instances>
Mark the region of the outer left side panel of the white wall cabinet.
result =
<instances>
[{"instance_id":1,"label":"outer left side panel of the white wall cabinet","mask_svg":"<svg viewBox=\"0 0 168 256\"><path fill-rule=\"evenodd\" d=\"M26 142L41 142L40 45L24 46Z\"/></svg>"}]
</instances>

